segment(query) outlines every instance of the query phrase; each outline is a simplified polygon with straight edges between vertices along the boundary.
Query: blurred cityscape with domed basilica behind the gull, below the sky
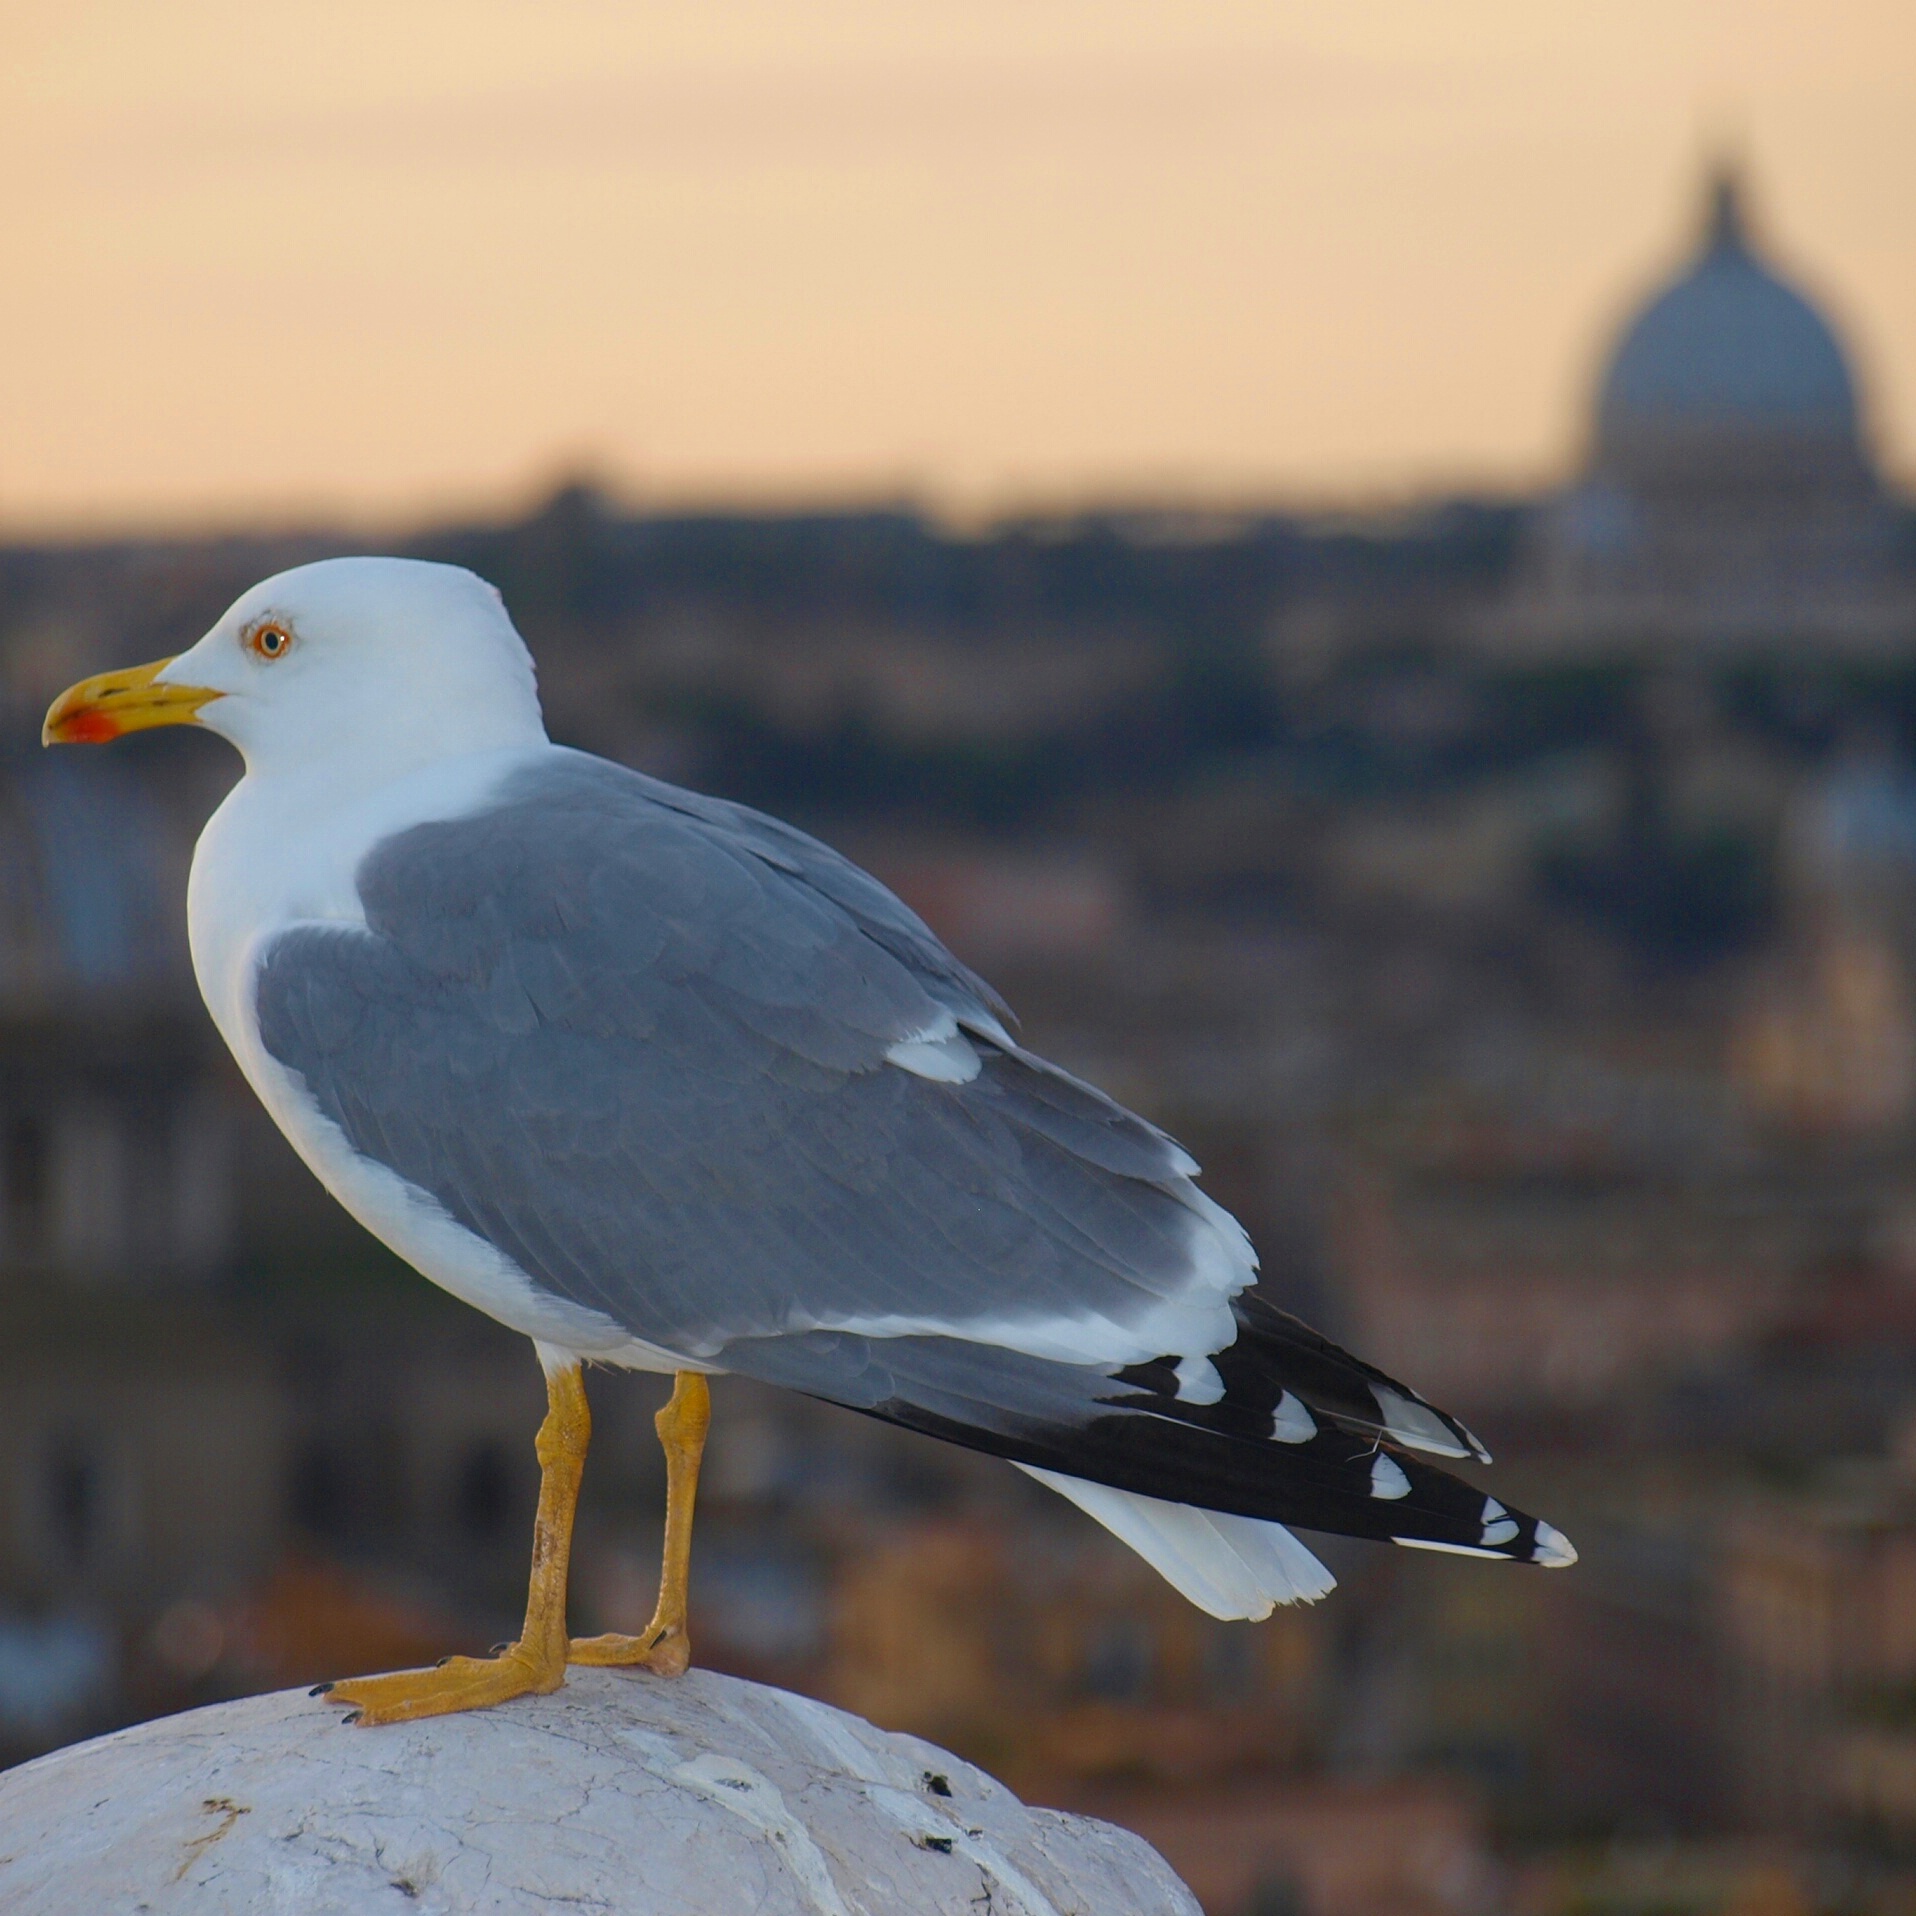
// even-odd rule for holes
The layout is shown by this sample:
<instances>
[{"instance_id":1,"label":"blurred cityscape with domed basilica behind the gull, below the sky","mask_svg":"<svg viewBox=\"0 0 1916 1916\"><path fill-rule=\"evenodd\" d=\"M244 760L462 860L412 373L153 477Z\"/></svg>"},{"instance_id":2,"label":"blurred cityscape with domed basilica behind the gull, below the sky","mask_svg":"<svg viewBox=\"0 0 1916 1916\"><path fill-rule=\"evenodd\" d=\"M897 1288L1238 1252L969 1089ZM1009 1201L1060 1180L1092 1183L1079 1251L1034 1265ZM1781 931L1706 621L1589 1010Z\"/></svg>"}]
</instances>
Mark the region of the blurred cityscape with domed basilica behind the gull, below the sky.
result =
<instances>
[{"instance_id":1,"label":"blurred cityscape with domed basilica behind the gull, below the sky","mask_svg":"<svg viewBox=\"0 0 1916 1916\"><path fill-rule=\"evenodd\" d=\"M1138 1828L1209 1916L1916 1910L1916 510L1780 251L1713 176L1542 498L577 485L400 542L502 588L558 738L887 879L1583 1550L1311 1539L1335 1596L1220 1625L1002 1466L720 1383L701 1661ZM232 759L36 741L353 544L0 548L0 1761L517 1623L529 1349L194 992ZM575 1627L628 1629L657 1383L592 1391Z\"/></svg>"}]
</instances>

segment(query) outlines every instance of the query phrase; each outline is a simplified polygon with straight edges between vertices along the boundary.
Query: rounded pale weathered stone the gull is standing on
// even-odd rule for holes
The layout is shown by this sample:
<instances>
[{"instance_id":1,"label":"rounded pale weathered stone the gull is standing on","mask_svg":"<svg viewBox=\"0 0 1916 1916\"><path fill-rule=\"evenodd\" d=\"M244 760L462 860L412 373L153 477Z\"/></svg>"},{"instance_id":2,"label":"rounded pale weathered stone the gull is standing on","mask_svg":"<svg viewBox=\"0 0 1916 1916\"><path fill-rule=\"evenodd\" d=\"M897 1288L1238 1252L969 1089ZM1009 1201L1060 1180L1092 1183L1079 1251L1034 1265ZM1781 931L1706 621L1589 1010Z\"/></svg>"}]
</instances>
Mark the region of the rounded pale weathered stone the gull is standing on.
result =
<instances>
[{"instance_id":1,"label":"rounded pale weathered stone the gull is standing on","mask_svg":"<svg viewBox=\"0 0 1916 1916\"><path fill-rule=\"evenodd\" d=\"M573 1671L364 1730L301 1692L0 1774L8 1916L1198 1916L1138 1837L784 1690Z\"/></svg>"}]
</instances>

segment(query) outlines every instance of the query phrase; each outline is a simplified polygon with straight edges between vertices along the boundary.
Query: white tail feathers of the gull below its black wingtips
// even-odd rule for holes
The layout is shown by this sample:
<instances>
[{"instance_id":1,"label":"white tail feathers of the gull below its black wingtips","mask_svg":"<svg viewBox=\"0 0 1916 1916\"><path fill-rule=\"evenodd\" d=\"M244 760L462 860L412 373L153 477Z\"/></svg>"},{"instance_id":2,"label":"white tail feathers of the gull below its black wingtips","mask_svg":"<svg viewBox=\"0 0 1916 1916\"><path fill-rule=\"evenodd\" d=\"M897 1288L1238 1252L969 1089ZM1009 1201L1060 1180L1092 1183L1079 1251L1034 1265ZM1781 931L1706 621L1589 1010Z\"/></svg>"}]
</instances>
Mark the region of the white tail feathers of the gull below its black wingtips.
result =
<instances>
[{"instance_id":1,"label":"white tail feathers of the gull below its black wingtips","mask_svg":"<svg viewBox=\"0 0 1916 1916\"><path fill-rule=\"evenodd\" d=\"M1069 1496L1119 1542L1130 1544L1180 1596L1213 1617L1268 1617L1278 1604L1314 1604L1337 1579L1282 1523L1167 1504L1083 1477L1019 1464L1027 1477Z\"/></svg>"}]
</instances>

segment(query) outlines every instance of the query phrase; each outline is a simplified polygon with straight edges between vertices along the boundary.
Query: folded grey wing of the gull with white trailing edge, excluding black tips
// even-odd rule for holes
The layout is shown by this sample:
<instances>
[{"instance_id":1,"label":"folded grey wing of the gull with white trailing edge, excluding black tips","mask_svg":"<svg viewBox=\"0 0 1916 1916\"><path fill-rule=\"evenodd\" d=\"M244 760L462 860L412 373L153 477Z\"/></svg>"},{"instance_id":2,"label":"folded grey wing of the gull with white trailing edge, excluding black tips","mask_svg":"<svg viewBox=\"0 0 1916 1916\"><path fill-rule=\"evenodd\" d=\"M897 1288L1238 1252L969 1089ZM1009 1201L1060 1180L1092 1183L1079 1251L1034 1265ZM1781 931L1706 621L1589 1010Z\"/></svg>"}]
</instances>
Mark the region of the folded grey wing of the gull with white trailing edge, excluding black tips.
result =
<instances>
[{"instance_id":1,"label":"folded grey wing of the gull with white trailing edge, excluding black tips","mask_svg":"<svg viewBox=\"0 0 1916 1916\"><path fill-rule=\"evenodd\" d=\"M814 1330L1127 1364L1230 1343L1243 1234L1153 1127L803 833L559 755L282 933L266 1050L362 1153L663 1349ZM901 1061L902 1060L902 1061Z\"/></svg>"}]
</instances>

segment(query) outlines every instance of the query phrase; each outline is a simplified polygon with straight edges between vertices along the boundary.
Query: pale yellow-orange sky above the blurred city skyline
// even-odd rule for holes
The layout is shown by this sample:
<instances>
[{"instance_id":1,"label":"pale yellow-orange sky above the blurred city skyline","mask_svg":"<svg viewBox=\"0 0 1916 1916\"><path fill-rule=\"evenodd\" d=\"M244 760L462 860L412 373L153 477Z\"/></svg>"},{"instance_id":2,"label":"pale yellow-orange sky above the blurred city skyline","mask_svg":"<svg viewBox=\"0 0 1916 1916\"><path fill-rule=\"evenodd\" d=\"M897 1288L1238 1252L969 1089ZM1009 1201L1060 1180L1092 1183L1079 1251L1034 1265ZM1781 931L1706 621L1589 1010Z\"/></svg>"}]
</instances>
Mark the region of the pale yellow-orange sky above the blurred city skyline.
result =
<instances>
[{"instance_id":1,"label":"pale yellow-orange sky above the blurred city skyline","mask_svg":"<svg viewBox=\"0 0 1916 1916\"><path fill-rule=\"evenodd\" d=\"M0 533L1531 483L1724 136L1910 469L1910 0L10 0Z\"/></svg>"}]
</instances>

